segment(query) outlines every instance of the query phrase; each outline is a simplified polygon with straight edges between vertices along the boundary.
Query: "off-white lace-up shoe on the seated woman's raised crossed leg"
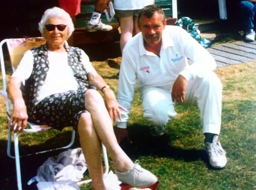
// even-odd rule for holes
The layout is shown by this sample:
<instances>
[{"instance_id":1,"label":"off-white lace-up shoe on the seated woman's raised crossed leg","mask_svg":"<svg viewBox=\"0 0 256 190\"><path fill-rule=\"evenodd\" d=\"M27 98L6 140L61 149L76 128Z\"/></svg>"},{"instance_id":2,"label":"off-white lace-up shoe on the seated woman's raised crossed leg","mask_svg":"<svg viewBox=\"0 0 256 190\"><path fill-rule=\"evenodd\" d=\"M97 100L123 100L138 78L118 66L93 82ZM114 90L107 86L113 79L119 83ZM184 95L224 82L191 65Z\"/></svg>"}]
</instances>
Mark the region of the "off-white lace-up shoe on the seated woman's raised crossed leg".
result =
<instances>
[{"instance_id":1,"label":"off-white lace-up shoe on the seated woman's raised crossed leg","mask_svg":"<svg viewBox=\"0 0 256 190\"><path fill-rule=\"evenodd\" d=\"M136 188L149 187L157 182L157 177L150 171L143 169L139 165L139 160L136 160L133 168L128 171L122 173L115 170L115 172L119 181Z\"/></svg>"}]
</instances>

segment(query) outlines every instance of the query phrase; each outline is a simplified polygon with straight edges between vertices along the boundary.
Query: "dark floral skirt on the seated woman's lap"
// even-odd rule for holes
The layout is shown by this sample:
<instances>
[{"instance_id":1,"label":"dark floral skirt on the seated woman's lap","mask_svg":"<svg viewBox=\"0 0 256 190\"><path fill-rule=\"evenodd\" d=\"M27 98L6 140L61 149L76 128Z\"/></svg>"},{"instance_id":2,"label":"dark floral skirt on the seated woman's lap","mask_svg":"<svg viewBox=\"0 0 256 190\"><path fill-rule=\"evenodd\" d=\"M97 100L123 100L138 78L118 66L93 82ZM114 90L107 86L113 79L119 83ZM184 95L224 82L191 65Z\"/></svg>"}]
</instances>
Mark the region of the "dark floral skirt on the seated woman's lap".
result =
<instances>
[{"instance_id":1,"label":"dark floral skirt on the seated woman's lap","mask_svg":"<svg viewBox=\"0 0 256 190\"><path fill-rule=\"evenodd\" d=\"M86 90L70 90L47 96L36 105L35 120L29 121L59 130L68 126L77 130L81 114L88 112L84 102Z\"/></svg>"}]
</instances>

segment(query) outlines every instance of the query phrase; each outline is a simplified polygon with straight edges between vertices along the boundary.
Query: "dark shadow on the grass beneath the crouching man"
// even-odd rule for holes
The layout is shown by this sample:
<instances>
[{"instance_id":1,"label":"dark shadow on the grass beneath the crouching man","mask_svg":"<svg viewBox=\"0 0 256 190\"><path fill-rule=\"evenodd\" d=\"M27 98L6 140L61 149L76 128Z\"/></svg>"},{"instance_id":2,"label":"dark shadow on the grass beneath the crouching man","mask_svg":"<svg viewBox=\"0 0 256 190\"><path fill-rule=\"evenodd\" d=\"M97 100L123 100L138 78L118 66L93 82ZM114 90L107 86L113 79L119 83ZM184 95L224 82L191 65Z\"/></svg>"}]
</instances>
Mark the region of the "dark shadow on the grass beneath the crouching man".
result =
<instances>
[{"instance_id":1,"label":"dark shadow on the grass beneath the crouching man","mask_svg":"<svg viewBox=\"0 0 256 190\"><path fill-rule=\"evenodd\" d=\"M163 135L162 138L152 137L149 133L148 126L131 125L127 130L129 131L130 138L133 143L129 144L127 141L123 140L120 143L120 146L133 160L139 159L140 156L173 158L175 160L183 160L185 162L202 160L205 162L208 169L215 169L210 166L208 154L204 149L186 150L173 147L169 141L176 137L172 137L170 135Z\"/></svg>"}]
</instances>

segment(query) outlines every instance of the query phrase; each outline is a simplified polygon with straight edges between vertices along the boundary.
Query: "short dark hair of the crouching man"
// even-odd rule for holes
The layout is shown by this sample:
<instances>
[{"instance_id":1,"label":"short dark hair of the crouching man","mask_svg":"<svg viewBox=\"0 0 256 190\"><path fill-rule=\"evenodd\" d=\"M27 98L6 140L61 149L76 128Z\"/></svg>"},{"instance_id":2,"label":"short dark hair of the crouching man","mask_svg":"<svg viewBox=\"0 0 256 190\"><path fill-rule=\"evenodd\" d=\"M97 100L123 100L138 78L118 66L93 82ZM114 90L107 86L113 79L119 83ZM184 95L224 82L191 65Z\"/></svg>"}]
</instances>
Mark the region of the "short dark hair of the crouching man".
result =
<instances>
[{"instance_id":1,"label":"short dark hair of the crouching man","mask_svg":"<svg viewBox=\"0 0 256 190\"><path fill-rule=\"evenodd\" d=\"M141 19L142 16L145 16L146 18L150 19L155 12L158 12L159 14L162 14L162 22L164 24L164 22L165 22L165 13L161 9L161 7L156 5L156 4L145 6L144 8L142 8L140 10L139 15L138 15L139 23L140 23L140 19Z\"/></svg>"}]
</instances>

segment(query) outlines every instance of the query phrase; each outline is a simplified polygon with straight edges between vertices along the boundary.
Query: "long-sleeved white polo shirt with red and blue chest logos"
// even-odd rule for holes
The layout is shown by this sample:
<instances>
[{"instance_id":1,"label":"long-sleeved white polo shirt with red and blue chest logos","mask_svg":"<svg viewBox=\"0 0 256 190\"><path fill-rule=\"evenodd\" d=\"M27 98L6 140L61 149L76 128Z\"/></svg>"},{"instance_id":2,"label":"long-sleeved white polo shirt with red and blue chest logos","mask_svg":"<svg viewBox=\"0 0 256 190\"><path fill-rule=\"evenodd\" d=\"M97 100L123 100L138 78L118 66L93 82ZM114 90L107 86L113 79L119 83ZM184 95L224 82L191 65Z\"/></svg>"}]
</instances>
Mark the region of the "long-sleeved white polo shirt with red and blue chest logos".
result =
<instances>
[{"instance_id":1,"label":"long-sleeved white polo shirt with red and blue chest logos","mask_svg":"<svg viewBox=\"0 0 256 190\"><path fill-rule=\"evenodd\" d=\"M191 65L187 58L193 61ZM178 26L166 26L163 31L160 57L148 52L142 33L137 34L123 49L117 100L128 112L120 109L122 121L117 119L117 126L126 128L129 121L136 81L139 90L146 87L171 89L179 74L189 81L215 68L215 60L209 52Z\"/></svg>"}]
</instances>

